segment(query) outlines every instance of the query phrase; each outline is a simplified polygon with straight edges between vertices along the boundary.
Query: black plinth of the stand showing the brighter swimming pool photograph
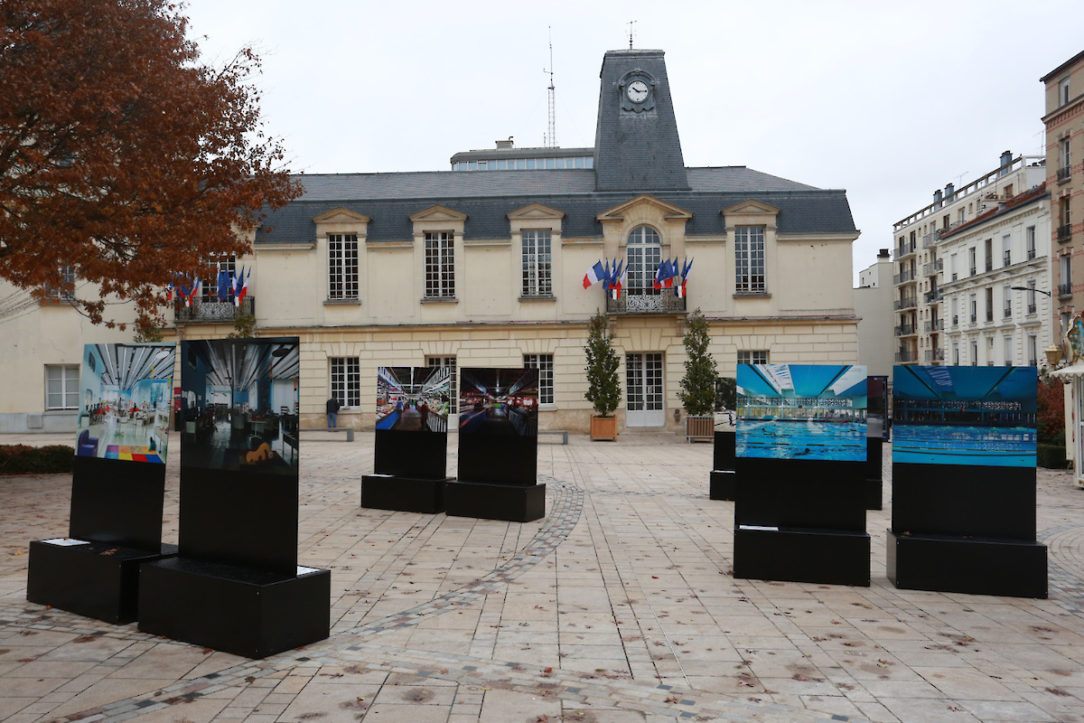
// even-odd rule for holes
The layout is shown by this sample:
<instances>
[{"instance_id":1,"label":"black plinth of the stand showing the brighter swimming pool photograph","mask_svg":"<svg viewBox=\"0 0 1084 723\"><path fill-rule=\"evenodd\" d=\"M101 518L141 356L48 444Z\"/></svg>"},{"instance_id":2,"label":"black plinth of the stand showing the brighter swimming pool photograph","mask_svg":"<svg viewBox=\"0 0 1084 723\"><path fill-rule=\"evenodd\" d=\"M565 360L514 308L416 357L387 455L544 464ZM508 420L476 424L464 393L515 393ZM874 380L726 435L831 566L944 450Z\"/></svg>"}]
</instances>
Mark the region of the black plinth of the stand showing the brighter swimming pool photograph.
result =
<instances>
[{"instance_id":1,"label":"black plinth of the stand showing the brighter swimming pool photograph","mask_svg":"<svg viewBox=\"0 0 1084 723\"><path fill-rule=\"evenodd\" d=\"M734 530L734 577L869 585L869 535L809 529Z\"/></svg>"}]
</instances>

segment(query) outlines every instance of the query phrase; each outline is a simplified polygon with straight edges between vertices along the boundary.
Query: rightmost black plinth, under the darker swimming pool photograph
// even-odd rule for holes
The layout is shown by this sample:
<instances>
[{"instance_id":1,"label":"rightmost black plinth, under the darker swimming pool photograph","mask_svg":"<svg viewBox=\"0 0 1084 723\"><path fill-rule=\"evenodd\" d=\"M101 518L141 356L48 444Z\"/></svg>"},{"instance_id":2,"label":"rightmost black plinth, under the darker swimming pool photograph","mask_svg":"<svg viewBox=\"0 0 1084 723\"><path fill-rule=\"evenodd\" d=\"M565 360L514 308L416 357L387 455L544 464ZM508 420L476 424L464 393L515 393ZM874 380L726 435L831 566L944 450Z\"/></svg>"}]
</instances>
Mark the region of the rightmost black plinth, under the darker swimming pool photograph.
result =
<instances>
[{"instance_id":1,"label":"rightmost black plinth, under the darker swimming pool photograph","mask_svg":"<svg viewBox=\"0 0 1084 723\"><path fill-rule=\"evenodd\" d=\"M1027 540L896 534L888 530L888 579L904 590L1047 596L1046 545Z\"/></svg>"}]
</instances>

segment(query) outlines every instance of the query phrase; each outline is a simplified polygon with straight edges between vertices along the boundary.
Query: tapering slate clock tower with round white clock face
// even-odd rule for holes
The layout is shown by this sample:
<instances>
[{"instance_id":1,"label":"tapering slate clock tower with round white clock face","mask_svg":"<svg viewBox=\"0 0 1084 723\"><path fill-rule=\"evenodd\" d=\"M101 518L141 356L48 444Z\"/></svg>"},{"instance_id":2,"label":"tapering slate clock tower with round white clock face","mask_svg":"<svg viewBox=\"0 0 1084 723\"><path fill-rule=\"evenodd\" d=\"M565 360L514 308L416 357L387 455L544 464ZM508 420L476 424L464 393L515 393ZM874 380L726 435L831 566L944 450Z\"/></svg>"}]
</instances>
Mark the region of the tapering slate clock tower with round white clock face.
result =
<instances>
[{"instance_id":1,"label":"tapering slate clock tower with round white clock face","mask_svg":"<svg viewBox=\"0 0 1084 723\"><path fill-rule=\"evenodd\" d=\"M595 189L688 190L662 51L608 51L601 76Z\"/></svg>"}]
</instances>

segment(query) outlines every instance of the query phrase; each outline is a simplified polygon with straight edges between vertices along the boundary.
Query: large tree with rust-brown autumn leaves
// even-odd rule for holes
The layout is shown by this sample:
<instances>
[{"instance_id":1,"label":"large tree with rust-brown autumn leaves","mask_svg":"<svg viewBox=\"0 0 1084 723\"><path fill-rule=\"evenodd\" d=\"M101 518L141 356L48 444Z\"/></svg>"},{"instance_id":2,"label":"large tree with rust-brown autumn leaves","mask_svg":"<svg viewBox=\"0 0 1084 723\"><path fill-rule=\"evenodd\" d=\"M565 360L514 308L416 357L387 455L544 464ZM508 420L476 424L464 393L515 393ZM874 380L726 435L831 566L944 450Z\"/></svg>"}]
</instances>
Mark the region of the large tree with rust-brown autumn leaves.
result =
<instances>
[{"instance_id":1,"label":"large tree with rust-brown autumn leaves","mask_svg":"<svg viewBox=\"0 0 1084 723\"><path fill-rule=\"evenodd\" d=\"M0 3L0 277L94 323L134 302L153 326L176 272L249 251L298 195L260 120L259 57L205 65L186 24L165 0Z\"/></svg>"}]
</instances>

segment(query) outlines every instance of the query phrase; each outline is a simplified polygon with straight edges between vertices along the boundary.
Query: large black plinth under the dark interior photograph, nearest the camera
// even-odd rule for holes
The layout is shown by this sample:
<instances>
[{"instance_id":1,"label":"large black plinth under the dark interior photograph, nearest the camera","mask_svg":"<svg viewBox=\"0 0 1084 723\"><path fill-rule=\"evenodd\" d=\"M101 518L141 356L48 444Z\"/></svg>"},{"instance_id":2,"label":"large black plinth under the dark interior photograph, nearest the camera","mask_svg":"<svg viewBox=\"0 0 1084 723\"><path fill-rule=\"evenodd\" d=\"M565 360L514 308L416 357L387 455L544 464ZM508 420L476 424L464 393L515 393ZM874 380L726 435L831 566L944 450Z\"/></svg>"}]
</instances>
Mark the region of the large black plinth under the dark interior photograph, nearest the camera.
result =
<instances>
[{"instance_id":1,"label":"large black plinth under the dark interior photograph, nearest the camera","mask_svg":"<svg viewBox=\"0 0 1084 723\"><path fill-rule=\"evenodd\" d=\"M296 574L182 557L143 566L139 629L247 658L315 643L331 625L331 571Z\"/></svg>"}]
</instances>

